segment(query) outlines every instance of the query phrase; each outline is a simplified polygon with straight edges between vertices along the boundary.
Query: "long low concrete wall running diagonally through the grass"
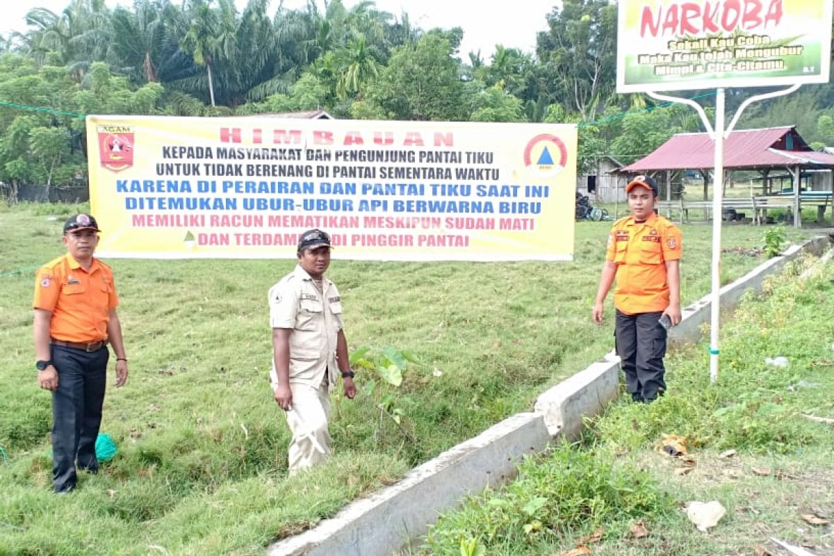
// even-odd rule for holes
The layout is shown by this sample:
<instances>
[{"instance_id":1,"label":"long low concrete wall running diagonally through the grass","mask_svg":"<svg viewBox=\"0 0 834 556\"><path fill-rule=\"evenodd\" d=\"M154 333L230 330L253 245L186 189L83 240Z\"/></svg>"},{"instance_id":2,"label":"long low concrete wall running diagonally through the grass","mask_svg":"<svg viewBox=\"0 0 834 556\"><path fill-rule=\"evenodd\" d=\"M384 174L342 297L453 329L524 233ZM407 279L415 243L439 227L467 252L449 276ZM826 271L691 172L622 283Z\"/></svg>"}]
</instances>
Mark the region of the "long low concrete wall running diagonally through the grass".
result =
<instances>
[{"instance_id":1,"label":"long low concrete wall running diagonally through the grass","mask_svg":"<svg viewBox=\"0 0 834 556\"><path fill-rule=\"evenodd\" d=\"M736 306L748 291L760 292L766 276L801 256L819 255L830 245L820 237L772 258L726 287L721 307ZM672 329L671 342L695 342L710 322L709 296L684 309ZM588 368L542 393L534 413L518 413L414 468L389 488L350 503L316 528L274 543L269 556L389 556L409 540L425 534L438 515L477 493L515 475L519 458L538 452L553 438L573 438L585 418L600 413L620 393L620 358L608 353Z\"/></svg>"}]
</instances>

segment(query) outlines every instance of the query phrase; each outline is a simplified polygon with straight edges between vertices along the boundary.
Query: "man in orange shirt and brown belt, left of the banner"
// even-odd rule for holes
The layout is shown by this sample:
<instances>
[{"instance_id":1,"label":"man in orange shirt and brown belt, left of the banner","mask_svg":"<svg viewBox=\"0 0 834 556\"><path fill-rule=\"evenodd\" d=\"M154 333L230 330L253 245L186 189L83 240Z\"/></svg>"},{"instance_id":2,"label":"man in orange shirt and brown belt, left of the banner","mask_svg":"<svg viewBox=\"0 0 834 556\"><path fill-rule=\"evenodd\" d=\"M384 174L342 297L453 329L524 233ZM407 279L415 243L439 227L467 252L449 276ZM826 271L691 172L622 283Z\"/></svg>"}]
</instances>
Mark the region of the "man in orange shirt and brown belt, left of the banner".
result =
<instances>
[{"instance_id":1,"label":"man in orange shirt and brown belt, left of the banner","mask_svg":"<svg viewBox=\"0 0 834 556\"><path fill-rule=\"evenodd\" d=\"M38 383L53 393L53 488L75 488L75 465L98 472L96 438L110 353L116 353L116 386L128 379L113 271L93 258L98 223L76 214L63 225L68 253L38 270L34 340Z\"/></svg>"}]
</instances>

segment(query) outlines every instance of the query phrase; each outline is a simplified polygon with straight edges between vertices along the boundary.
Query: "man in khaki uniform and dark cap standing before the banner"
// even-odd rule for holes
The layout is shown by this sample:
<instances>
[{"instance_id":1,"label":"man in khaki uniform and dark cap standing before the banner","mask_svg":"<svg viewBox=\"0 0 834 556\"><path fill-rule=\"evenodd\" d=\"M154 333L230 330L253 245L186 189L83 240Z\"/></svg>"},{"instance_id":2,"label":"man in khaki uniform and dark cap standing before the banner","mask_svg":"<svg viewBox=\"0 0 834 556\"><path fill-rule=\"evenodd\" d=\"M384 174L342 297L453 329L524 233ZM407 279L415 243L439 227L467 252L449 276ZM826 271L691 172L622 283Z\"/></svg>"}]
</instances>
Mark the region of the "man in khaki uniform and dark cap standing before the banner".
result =
<instances>
[{"instance_id":1,"label":"man in khaki uniform and dark cap standing before the banner","mask_svg":"<svg viewBox=\"0 0 834 556\"><path fill-rule=\"evenodd\" d=\"M318 229L302 233L298 266L269 289L274 348L269 379L293 433L290 474L330 454L329 389L337 383L337 369L342 373L345 397L356 395L339 290L324 278L330 247L327 233Z\"/></svg>"}]
</instances>

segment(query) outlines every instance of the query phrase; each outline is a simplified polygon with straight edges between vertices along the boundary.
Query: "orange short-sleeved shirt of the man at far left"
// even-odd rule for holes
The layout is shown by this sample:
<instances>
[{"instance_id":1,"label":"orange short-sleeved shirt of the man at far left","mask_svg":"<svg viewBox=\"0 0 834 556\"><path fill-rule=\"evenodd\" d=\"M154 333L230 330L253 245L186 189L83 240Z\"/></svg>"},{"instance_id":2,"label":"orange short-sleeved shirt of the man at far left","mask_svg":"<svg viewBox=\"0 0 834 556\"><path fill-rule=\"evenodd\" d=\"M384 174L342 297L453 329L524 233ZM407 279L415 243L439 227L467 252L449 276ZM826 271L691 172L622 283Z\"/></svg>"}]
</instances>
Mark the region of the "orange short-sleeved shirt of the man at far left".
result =
<instances>
[{"instance_id":1,"label":"orange short-sleeved shirt of the man at far left","mask_svg":"<svg viewBox=\"0 0 834 556\"><path fill-rule=\"evenodd\" d=\"M110 309L117 305L113 271L98 258L87 271L67 253L38 270L33 307L52 312L49 334L56 340L106 339Z\"/></svg>"}]
</instances>

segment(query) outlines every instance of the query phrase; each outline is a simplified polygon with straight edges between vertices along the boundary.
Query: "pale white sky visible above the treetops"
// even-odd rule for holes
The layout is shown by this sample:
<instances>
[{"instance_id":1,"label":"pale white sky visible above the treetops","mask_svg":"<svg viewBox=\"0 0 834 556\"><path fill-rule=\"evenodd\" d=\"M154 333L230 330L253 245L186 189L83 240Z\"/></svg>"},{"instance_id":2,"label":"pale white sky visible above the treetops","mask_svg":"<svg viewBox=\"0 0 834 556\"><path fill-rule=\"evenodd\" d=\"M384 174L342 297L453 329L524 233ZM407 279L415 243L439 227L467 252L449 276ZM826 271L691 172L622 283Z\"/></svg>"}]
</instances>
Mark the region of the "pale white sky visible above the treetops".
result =
<instances>
[{"instance_id":1,"label":"pale white sky visible above the treetops","mask_svg":"<svg viewBox=\"0 0 834 556\"><path fill-rule=\"evenodd\" d=\"M358 0L343 0L348 8ZM246 0L236 0L244 6ZM317 0L319 7L323 0ZM132 5L132 0L108 0L110 6ZM269 13L274 13L279 0L273 0ZM460 27L464 39L460 45L461 58L480 50L481 58L489 62L495 52L495 44L507 48L520 48L532 53L535 36L547 28L545 16L560 0L376 0L379 10L393 13L399 18L406 12L412 25L428 30L431 28ZM60 12L69 4L68 0L4 0L3 20L0 33L26 30L26 13L32 8L47 8ZM304 0L284 0L289 9L304 7Z\"/></svg>"}]
</instances>

